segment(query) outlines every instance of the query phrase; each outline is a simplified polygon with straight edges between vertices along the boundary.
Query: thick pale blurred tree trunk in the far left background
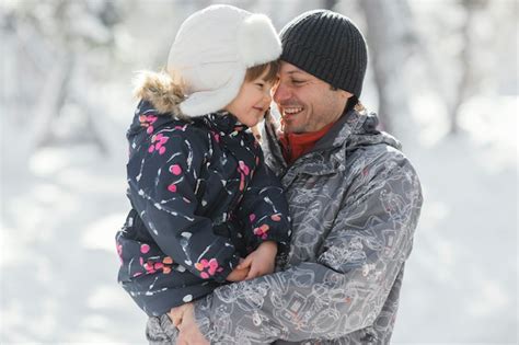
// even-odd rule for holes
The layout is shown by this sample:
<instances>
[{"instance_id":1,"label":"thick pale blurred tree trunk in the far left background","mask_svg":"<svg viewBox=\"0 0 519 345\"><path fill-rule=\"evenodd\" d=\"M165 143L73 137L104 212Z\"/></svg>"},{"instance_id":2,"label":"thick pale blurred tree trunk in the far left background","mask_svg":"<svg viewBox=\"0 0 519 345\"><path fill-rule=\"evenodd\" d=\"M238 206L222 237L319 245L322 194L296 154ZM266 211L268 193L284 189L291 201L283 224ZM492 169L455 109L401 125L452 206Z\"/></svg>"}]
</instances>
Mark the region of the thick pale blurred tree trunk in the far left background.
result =
<instances>
[{"instance_id":1,"label":"thick pale blurred tree trunk in the far left background","mask_svg":"<svg viewBox=\"0 0 519 345\"><path fill-rule=\"evenodd\" d=\"M34 65L41 65L45 78L30 110L33 114L32 149L49 145L89 142L96 145L102 153L107 153L107 145L94 119L94 114L97 113L94 106L96 100L89 96L94 94L92 85L95 84L94 68L89 64L95 60L92 59L94 54L96 57L104 55L113 58L115 37L112 28L120 20L122 13L117 4L109 0L95 4L60 0L47 4L46 9L48 11L42 16L34 15L37 11L28 3L22 2L16 9L21 18L26 16L19 25L20 36L24 38L23 48L31 59L38 62ZM88 23L88 30L79 24L74 26L76 23ZM24 30L25 25L32 30ZM38 46L34 42L45 42L45 45ZM51 58L42 62L39 59L45 50L50 51L47 55ZM81 59L84 56L91 58L91 61ZM79 70L85 72L78 77ZM67 113L66 105L79 108L79 115ZM71 120L62 120L62 117L67 116ZM81 120L85 124L84 127L79 127ZM67 126L76 131L69 130Z\"/></svg>"}]
</instances>

